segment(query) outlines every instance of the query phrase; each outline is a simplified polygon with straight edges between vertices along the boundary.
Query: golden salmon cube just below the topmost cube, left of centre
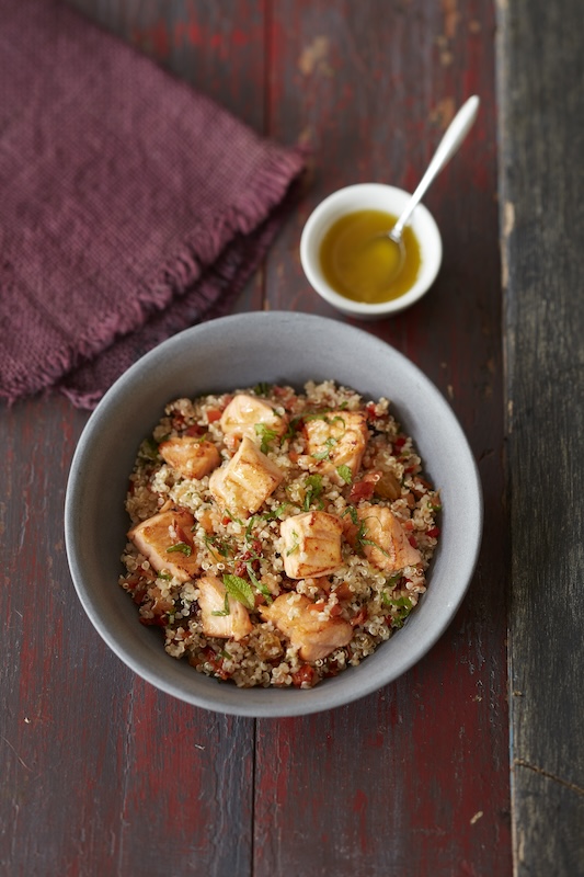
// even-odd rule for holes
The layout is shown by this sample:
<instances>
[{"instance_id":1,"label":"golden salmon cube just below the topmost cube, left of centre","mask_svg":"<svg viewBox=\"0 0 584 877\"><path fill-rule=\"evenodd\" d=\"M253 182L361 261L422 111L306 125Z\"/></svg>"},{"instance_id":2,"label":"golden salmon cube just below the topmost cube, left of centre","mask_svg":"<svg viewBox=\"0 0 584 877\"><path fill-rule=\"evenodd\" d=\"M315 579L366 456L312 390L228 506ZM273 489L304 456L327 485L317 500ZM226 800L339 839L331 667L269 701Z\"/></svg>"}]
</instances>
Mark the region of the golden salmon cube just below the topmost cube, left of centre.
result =
<instances>
[{"instance_id":1,"label":"golden salmon cube just below the topmost cube, left of centre","mask_svg":"<svg viewBox=\"0 0 584 877\"><path fill-rule=\"evenodd\" d=\"M221 505L239 514L253 514L284 478L278 467L248 436L237 454L209 478L209 490Z\"/></svg>"}]
</instances>

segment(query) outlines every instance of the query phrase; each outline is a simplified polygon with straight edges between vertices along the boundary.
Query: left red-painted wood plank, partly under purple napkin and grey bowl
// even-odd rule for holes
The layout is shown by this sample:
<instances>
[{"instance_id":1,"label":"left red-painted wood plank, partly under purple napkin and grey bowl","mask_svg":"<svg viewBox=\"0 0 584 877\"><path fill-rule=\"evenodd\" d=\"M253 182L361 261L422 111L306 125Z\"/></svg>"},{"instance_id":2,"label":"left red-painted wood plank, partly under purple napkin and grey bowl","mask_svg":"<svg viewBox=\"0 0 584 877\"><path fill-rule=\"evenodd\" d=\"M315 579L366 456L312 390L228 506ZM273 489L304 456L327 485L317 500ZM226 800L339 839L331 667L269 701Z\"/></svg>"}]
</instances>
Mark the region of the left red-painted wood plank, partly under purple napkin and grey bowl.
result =
<instances>
[{"instance_id":1,"label":"left red-painted wood plank, partly under purple napkin and grey bowl","mask_svg":"<svg viewBox=\"0 0 584 877\"><path fill-rule=\"evenodd\" d=\"M262 130L261 2L76 5ZM254 303L257 280L241 306ZM245 874L253 721L156 692L75 594L62 510L85 419L60 397L0 411L0 872Z\"/></svg>"}]
</instances>

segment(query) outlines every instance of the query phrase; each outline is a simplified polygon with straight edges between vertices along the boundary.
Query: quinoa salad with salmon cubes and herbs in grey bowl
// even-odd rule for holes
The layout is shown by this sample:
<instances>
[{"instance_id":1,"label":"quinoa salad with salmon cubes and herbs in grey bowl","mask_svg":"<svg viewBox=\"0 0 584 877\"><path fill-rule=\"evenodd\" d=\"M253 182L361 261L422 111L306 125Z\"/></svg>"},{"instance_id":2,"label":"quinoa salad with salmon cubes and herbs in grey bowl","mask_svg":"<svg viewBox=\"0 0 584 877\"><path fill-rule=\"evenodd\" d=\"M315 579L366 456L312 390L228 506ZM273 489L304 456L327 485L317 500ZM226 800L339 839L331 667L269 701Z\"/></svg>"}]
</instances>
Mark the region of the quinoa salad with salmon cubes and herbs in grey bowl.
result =
<instances>
[{"instance_id":1,"label":"quinoa salad with salmon cubes and herbs in grey bowl","mask_svg":"<svg viewBox=\"0 0 584 877\"><path fill-rule=\"evenodd\" d=\"M171 657L310 688L403 626L440 500L388 400L325 380L170 402L126 510L119 583Z\"/></svg>"}]
</instances>

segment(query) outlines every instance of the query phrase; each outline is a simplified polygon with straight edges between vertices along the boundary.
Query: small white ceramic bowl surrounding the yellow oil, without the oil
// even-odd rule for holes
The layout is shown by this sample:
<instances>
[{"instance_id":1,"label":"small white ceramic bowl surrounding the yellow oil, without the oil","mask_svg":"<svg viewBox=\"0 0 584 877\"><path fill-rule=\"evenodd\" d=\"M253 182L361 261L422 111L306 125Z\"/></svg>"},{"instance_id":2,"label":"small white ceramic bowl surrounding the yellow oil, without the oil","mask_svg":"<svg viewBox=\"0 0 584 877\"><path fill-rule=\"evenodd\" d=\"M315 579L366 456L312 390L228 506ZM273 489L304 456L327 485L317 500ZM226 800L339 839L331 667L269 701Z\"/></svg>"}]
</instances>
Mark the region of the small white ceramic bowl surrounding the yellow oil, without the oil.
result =
<instances>
[{"instance_id":1,"label":"small white ceramic bowl surrounding the yellow oil, without the oil","mask_svg":"<svg viewBox=\"0 0 584 877\"><path fill-rule=\"evenodd\" d=\"M399 216L410 197L408 192L396 186L360 183L329 195L309 216L300 241L302 267L311 286L337 310L362 318L398 314L417 301L434 283L442 263L442 238L434 217L423 204L417 205L409 223L420 242L421 265L416 282L408 293L377 305L352 301L336 293L322 272L320 248L333 223L348 213L363 209L383 210Z\"/></svg>"}]
</instances>

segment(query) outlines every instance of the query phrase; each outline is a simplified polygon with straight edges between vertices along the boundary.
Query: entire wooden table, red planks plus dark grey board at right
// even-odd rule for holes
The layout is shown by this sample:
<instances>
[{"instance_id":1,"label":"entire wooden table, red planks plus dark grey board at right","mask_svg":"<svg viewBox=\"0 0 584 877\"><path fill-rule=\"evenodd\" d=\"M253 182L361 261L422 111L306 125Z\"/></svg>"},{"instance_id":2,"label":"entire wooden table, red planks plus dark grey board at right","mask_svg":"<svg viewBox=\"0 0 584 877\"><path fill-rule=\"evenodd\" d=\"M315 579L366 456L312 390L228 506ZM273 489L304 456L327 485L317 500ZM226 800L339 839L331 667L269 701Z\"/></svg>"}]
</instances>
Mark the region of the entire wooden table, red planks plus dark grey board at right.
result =
<instances>
[{"instance_id":1,"label":"entire wooden table, red planks plus dark grey board at right","mask_svg":"<svg viewBox=\"0 0 584 877\"><path fill-rule=\"evenodd\" d=\"M456 107L481 95L426 197L439 280L364 326L449 399L482 477L484 540L450 628L392 685L307 718L209 714L127 670L76 597L62 506L87 412L59 396L2 409L0 873L583 875L579 0L75 5L312 150L239 310L341 319L300 269L309 212L352 182L412 189Z\"/></svg>"}]
</instances>

